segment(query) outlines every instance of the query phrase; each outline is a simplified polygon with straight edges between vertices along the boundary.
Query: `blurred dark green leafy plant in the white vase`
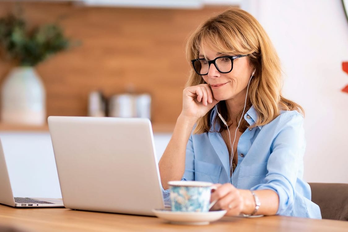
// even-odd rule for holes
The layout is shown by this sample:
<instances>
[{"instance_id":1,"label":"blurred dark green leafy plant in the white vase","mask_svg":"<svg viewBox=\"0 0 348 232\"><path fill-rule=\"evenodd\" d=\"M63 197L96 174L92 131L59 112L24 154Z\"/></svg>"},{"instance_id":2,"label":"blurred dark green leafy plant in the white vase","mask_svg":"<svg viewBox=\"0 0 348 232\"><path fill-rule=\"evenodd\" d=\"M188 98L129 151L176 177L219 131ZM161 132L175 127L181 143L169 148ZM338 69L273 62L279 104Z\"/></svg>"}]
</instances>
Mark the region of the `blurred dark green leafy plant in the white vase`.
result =
<instances>
[{"instance_id":1,"label":"blurred dark green leafy plant in the white vase","mask_svg":"<svg viewBox=\"0 0 348 232\"><path fill-rule=\"evenodd\" d=\"M69 47L70 42L56 24L26 27L23 18L10 14L0 18L0 45L6 57L21 66L35 66L50 55Z\"/></svg>"}]
</instances>

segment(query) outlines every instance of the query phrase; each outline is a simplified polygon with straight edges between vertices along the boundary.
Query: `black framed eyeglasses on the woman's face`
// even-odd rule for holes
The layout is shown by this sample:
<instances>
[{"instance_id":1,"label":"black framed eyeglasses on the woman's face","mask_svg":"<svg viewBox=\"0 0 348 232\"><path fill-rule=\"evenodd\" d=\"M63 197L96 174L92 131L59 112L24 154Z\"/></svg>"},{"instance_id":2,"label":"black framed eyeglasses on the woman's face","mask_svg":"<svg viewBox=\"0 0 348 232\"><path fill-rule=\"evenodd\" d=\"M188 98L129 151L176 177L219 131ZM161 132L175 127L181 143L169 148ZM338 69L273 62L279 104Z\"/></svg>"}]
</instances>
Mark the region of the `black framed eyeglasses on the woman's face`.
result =
<instances>
[{"instance_id":1,"label":"black framed eyeglasses on the woman's face","mask_svg":"<svg viewBox=\"0 0 348 232\"><path fill-rule=\"evenodd\" d=\"M219 56L214 60L206 59L195 59L191 60L193 69L197 72L198 75L204 76L208 74L209 67L211 64L215 65L217 71L221 73L229 73L233 69L233 61L247 55L235 55L235 56Z\"/></svg>"}]
</instances>

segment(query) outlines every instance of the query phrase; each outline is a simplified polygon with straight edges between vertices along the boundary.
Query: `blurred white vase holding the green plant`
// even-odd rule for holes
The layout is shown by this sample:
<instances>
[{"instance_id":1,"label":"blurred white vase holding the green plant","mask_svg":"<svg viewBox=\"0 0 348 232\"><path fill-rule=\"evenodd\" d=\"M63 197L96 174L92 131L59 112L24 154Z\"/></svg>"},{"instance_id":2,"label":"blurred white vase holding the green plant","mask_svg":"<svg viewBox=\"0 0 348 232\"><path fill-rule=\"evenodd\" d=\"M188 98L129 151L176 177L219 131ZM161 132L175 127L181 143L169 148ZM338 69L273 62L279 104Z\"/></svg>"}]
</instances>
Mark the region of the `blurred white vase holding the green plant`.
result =
<instances>
[{"instance_id":1,"label":"blurred white vase holding the green plant","mask_svg":"<svg viewBox=\"0 0 348 232\"><path fill-rule=\"evenodd\" d=\"M45 99L44 85L34 68L14 68L1 87L1 123L45 124Z\"/></svg>"}]
</instances>

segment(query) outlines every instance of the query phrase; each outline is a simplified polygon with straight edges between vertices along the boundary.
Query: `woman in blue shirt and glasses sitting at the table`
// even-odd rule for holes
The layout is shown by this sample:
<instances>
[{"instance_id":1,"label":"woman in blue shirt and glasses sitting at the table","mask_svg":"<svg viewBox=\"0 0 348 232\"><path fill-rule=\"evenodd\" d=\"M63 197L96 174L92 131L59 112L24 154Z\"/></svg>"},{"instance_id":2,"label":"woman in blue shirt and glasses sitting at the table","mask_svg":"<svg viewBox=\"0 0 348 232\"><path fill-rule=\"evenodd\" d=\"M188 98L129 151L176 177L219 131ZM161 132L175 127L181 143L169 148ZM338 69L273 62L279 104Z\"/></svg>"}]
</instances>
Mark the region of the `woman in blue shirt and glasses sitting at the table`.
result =
<instances>
[{"instance_id":1,"label":"woman in blue shirt and glasses sitting at the table","mask_svg":"<svg viewBox=\"0 0 348 232\"><path fill-rule=\"evenodd\" d=\"M303 110L282 96L279 58L262 26L231 8L192 34L187 57L182 112L159 162L163 188L209 181L218 186L212 209L227 215L321 218L302 180Z\"/></svg>"}]
</instances>

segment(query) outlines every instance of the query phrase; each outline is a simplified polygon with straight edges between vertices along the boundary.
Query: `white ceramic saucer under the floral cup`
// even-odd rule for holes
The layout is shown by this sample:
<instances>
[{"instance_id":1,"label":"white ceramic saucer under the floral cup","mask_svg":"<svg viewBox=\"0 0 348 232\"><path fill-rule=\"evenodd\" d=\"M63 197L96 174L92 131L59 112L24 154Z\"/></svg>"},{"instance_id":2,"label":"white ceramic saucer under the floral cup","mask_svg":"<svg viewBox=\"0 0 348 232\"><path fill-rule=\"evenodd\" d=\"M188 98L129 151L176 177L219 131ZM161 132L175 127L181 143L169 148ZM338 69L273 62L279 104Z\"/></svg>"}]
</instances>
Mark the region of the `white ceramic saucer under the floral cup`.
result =
<instances>
[{"instance_id":1,"label":"white ceramic saucer under the floral cup","mask_svg":"<svg viewBox=\"0 0 348 232\"><path fill-rule=\"evenodd\" d=\"M226 214L226 210L209 212L175 212L167 209L153 209L152 212L159 218L173 224L183 225L207 225L216 221Z\"/></svg>"}]
</instances>

